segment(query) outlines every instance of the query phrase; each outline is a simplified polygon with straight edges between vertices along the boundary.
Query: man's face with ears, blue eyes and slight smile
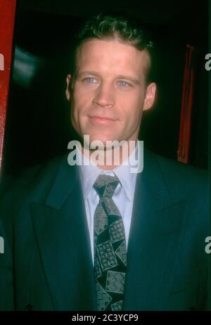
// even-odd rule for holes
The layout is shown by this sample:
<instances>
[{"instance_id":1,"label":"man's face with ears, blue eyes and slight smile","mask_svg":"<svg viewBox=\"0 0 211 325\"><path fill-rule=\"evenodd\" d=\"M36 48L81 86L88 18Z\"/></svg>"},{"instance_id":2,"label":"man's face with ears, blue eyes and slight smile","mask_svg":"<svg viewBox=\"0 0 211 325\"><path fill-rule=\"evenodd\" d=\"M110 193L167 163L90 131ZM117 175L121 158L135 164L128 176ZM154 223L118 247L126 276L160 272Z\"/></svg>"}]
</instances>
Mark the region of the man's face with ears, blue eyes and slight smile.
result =
<instances>
[{"instance_id":1,"label":"man's face with ears, blue eyes and slight smile","mask_svg":"<svg viewBox=\"0 0 211 325\"><path fill-rule=\"evenodd\" d=\"M136 140L141 115L153 105L155 84L146 85L148 53L117 40L91 39L78 52L72 87L72 126L94 140Z\"/></svg>"}]
</instances>

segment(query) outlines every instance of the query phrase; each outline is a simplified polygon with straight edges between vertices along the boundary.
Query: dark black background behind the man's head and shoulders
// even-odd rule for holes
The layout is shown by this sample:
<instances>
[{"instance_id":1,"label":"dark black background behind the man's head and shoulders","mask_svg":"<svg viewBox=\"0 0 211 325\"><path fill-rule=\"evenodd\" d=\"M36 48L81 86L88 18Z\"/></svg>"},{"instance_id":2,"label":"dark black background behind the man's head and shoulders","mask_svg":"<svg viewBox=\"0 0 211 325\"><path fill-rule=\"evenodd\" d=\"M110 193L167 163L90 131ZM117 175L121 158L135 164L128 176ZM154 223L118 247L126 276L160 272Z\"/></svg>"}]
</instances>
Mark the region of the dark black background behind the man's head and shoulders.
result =
<instances>
[{"instance_id":1,"label":"dark black background behind the man's head and shoulders","mask_svg":"<svg viewBox=\"0 0 211 325\"><path fill-rule=\"evenodd\" d=\"M67 151L72 140L65 79L73 37L84 18L126 11L158 44L158 98L143 116L140 139L155 153L177 159L186 44L195 48L190 164L207 168L208 1L18 1L6 121L4 172ZM27 59L25 59L27 58ZM34 58L32 60L32 58ZM30 62L23 65L23 62ZM35 63L33 63L35 62ZM30 71L34 68L34 73ZM30 77L29 77L30 75Z\"/></svg>"}]
</instances>

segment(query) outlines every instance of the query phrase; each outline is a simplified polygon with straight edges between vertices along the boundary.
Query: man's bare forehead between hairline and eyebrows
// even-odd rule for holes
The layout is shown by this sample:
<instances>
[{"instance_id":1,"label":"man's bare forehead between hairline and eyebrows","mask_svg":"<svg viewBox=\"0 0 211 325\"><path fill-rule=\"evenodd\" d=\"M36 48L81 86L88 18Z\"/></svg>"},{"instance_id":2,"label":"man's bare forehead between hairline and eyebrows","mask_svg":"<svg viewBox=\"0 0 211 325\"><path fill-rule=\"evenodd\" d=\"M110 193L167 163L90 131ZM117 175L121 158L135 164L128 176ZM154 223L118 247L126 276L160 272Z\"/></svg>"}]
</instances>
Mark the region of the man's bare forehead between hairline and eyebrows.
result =
<instances>
[{"instance_id":1,"label":"man's bare forehead between hairline and eyebrows","mask_svg":"<svg viewBox=\"0 0 211 325\"><path fill-rule=\"evenodd\" d=\"M130 44L117 39L90 39L79 47L77 52L77 70L96 72L131 73L140 76L150 64L147 51L139 51Z\"/></svg>"}]
</instances>

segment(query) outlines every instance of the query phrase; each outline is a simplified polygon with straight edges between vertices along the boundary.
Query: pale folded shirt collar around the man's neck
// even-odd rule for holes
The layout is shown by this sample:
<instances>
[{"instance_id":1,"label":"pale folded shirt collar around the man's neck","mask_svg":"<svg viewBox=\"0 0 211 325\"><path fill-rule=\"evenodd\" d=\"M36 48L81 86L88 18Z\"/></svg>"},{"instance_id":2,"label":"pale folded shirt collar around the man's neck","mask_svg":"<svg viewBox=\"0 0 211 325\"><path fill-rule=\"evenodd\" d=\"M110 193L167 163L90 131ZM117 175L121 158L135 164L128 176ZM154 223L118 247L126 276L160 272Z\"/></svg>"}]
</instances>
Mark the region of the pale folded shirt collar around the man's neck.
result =
<instances>
[{"instance_id":1,"label":"pale folded shirt collar around the man's neck","mask_svg":"<svg viewBox=\"0 0 211 325\"><path fill-rule=\"evenodd\" d=\"M139 142L137 141L136 148L131 155L137 155L138 145ZM82 152L79 150L79 148L76 146L76 161L79 167L79 177L81 179L82 191L85 200L88 198L89 193L94 185L94 182L96 181L96 178L98 177L99 174L107 174L110 176L114 176L115 174L119 179L120 184L122 185L122 188L124 189L127 198L130 200L130 202L133 201L137 174L132 173L130 171L131 166L129 163L129 158L125 160L128 162L125 165L117 166L113 170L101 170L101 168L99 168L98 166L94 166L91 163L89 163L89 158L87 158L86 155L83 155ZM79 165L78 164L79 161L82 161L83 164Z\"/></svg>"}]
</instances>

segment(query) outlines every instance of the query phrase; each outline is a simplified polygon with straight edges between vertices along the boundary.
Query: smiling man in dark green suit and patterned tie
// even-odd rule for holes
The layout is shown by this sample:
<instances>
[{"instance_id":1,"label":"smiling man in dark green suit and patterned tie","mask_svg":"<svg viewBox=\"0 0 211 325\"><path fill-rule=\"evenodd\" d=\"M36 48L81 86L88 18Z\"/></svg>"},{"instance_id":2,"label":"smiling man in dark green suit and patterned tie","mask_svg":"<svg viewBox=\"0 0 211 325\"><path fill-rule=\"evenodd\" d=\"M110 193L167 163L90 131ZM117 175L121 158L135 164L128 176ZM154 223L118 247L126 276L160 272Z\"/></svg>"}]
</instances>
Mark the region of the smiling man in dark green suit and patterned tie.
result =
<instances>
[{"instance_id":1,"label":"smiling man in dark green suit and patterned tie","mask_svg":"<svg viewBox=\"0 0 211 325\"><path fill-rule=\"evenodd\" d=\"M203 172L148 151L143 171L129 164L155 99L152 53L126 18L98 15L79 33L66 89L72 126L101 141L98 155L112 163L94 165L85 143L83 165L56 158L5 193L1 310L205 309ZM119 165L107 141L124 141Z\"/></svg>"}]
</instances>

